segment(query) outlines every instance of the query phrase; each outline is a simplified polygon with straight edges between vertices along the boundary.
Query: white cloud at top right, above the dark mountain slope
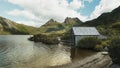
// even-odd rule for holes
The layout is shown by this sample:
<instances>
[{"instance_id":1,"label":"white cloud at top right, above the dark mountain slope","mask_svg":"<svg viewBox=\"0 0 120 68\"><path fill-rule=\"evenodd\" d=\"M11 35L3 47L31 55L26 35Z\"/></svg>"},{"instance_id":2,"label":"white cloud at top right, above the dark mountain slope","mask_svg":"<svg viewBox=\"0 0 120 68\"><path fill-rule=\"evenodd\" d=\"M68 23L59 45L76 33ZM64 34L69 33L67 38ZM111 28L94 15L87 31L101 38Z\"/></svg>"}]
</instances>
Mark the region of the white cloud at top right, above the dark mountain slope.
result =
<instances>
[{"instance_id":1,"label":"white cloud at top right, above the dark mountain slope","mask_svg":"<svg viewBox=\"0 0 120 68\"><path fill-rule=\"evenodd\" d=\"M97 18L102 13L111 12L118 6L120 6L120 0L101 0L99 5L95 7L95 10L90 16L90 19Z\"/></svg>"}]
</instances>

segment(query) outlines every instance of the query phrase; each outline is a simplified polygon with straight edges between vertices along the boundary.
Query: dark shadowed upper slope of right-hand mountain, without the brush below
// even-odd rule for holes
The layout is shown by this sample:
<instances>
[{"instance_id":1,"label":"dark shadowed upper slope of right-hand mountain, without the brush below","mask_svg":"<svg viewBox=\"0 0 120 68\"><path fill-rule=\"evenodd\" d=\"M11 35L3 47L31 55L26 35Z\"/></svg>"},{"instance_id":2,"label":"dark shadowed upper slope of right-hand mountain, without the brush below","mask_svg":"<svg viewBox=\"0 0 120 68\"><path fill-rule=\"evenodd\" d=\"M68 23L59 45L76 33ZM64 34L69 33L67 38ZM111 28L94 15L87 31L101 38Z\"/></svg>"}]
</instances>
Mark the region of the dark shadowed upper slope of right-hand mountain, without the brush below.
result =
<instances>
[{"instance_id":1,"label":"dark shadowed upper slope of right-hand mountain, without the brush below","mask_svg":"<svg viewBox=\"0 0 120 68\"><path fill-rule=\"evenodd\" d=\"M120 6L114 9L112 12L103 13L98 18L87 21L82 25L99 26L99 25L111 25L120 21Z\"/></svg>"}]
</instances>

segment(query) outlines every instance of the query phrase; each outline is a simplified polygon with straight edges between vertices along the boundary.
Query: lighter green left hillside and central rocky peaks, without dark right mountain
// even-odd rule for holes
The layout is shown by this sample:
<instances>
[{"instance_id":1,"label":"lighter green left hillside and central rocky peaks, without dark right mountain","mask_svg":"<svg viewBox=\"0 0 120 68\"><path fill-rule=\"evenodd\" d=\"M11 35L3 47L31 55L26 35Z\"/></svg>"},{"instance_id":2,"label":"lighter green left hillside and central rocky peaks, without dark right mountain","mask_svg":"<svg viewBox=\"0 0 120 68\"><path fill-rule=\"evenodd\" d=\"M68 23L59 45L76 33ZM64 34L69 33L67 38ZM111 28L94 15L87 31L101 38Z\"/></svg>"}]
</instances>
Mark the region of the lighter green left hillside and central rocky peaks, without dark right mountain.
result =
<instances>
[{"instance_id":1,"label":"lighter green left hillside and central rocky peaks, without dark right mountain","mask_svg":"<svg viewBox=\"0 0 120 68\"><path fill-rule=\"evenodd\" d=\"M40 33L57 33L62 34L72 26L82 23L78 18L67 17L65 21L57 22L50 19L40 28L18 24L9 19L0 17L0 34L40 34Z\"/></svg>"}]
</instances>

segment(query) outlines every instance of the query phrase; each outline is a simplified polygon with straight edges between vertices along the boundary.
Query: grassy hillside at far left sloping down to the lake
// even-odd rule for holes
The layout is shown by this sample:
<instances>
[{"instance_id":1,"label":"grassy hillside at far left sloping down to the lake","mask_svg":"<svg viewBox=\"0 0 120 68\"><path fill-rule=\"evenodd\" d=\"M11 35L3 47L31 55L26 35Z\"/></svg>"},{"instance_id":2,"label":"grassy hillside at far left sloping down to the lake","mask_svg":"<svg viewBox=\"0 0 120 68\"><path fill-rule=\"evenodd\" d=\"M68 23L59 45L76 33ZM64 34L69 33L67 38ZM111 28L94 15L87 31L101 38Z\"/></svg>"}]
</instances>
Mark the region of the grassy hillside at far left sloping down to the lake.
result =
<instances>
[{"instance_id":1,"label":"grassy hillside at far left sloping down to the lake","mask_svg":"<svg viewBox=\"0 0 120 68\"><path fill-rule=\"evenodd\" d=\"M9 19L0 17L0 34L33 34L35 27L18 24Z\"/></svg>"}]
</instances>

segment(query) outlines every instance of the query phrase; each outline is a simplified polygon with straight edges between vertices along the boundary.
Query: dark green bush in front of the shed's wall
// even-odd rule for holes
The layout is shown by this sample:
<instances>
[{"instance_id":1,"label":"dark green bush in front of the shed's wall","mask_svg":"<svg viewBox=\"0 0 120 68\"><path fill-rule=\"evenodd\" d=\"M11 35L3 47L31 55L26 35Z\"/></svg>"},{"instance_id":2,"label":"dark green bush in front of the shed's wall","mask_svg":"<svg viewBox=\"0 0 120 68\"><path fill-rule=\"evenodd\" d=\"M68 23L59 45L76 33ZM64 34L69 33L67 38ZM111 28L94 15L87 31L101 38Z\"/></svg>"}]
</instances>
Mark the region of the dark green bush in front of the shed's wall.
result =
<instances>
[{"instance_id":1,"label":"dark green bush in front of the shed's wall","mask_svg":"<svg viewBox=\"0 0 120 68\"><path fill-rule=\"evenodd\" d=\"M78 46L85 49L103 51L108 46L109 41L98 39L97 37L86 37L78 41Z\"/></svg>"}]
</instances>

